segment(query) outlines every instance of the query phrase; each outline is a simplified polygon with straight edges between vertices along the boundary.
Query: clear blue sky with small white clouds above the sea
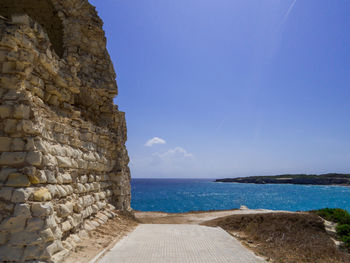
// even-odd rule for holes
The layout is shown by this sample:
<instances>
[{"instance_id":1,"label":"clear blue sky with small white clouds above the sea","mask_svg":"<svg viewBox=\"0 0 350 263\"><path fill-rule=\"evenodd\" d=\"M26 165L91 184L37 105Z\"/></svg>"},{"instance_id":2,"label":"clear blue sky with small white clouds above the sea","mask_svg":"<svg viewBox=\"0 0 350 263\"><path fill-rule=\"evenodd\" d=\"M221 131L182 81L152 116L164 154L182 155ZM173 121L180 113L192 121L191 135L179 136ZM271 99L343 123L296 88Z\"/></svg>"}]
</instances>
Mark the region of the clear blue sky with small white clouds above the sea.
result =
<instances>
[{"instance_id":1,"label":"clear blue sky with small white clouds above the sea","mask_svg":"<svg viewBox=\"0 0 350 263\"><path fill-rule=\"evenodd\" d=\"M350 173L350 1L90 2L132 177Z\"/></svg>"}]
</instances>

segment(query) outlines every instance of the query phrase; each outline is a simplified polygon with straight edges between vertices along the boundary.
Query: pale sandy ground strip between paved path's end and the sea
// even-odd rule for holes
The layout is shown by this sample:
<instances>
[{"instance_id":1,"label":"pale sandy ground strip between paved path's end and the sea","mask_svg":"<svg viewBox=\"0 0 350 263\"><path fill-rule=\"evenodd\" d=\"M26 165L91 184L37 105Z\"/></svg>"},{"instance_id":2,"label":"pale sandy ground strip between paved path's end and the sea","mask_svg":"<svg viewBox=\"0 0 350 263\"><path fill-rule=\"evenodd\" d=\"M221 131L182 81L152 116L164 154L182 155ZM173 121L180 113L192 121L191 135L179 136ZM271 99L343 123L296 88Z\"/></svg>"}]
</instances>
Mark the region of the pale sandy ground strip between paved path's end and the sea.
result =
<instances>
[{"instance_id":1,"label":"pale sandy ground strip between paved path's end and the sea","mask_svg":"<svg viewBox=\"0 0 350 263\"><path fill-rule=\"evenodd\" d=\"M141 212L135 211L136 219L143 224L200 224L218 217L224 217L237 214L261 214L261 213L279 213L285 211L275 211L266 209L235 209L218 210L206 212L188 212L188 213L163 213L163 212Z\"/></svg>"}]
</instances>

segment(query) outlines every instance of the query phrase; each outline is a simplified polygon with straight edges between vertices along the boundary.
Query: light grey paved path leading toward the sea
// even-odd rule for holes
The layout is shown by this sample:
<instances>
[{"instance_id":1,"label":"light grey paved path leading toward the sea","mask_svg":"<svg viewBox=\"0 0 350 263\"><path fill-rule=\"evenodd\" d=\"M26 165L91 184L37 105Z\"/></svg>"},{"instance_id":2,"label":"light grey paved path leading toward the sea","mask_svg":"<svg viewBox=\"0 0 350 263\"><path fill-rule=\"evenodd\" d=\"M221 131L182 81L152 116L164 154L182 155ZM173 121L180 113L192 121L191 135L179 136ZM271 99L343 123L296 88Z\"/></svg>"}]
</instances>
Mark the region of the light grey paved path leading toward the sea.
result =
<instances>
[{"instance_id":1,"label":"light grey paved path leading toward the sea","mask_svg":"<svg viewBox=\"0 0 350 263\"><path fill-rule=\"evenodd\" d=\"M261 263L221 228L141 224L99 261L102 263Z\"/></svg>"}]
</instances>

